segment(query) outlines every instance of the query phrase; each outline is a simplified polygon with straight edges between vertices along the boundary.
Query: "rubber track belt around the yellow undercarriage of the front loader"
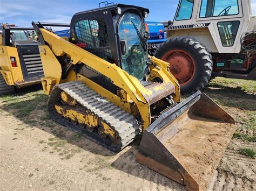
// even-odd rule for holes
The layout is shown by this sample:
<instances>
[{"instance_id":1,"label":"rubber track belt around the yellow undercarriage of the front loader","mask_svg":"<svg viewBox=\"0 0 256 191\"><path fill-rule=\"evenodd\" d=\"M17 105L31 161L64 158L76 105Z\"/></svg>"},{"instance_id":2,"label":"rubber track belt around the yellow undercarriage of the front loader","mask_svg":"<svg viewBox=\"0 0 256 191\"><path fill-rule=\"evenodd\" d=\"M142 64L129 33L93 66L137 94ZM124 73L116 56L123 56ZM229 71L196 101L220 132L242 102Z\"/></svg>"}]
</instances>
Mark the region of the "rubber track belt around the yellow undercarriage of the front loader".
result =
<instances>
[{"instance_id":1,"label":"rubber track belt around the yellow undercarriage of the front loader","mask_svg":"<svg viewBox=\"0 0 256 191\"><path fill-rule=\"evenodd\" d=\"M98 116L99 119L118 132L121 144L113 144L109 138L103 139L99 137L97 132L90 133L80 127L77 128L79 125L74 125L74 123L68 122L66 119L64 119L64 121L63 118L56 115L54 105L56 104L57 97L59 97L61 91L65 91L65 93L69 94L79 104L85 107L85 110L90 110L92 114ZM86 137L114 152L118 152L129 145L139 133L138 122L132 115L91 90L83 82L72 81L55 86L48 101L48 110L52 114L51 117L53 120L68 126L75 131L78 129L79 131L85 130Z\"/></svg>"}]
</instances>

